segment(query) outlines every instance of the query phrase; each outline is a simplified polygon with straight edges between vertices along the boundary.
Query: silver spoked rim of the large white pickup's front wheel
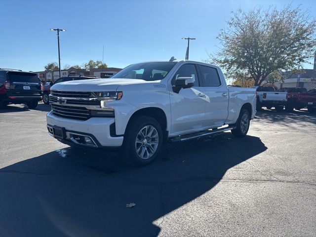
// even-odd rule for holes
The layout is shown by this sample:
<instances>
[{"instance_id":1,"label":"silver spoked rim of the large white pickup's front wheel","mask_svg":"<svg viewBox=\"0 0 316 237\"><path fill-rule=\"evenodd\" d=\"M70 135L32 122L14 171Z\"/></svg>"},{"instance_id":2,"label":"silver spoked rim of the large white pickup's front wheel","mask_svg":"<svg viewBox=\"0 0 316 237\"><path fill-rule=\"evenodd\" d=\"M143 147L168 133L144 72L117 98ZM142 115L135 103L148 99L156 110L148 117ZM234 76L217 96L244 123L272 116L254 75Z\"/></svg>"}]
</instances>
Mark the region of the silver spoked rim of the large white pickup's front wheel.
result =
<instances>
[{"instance_id":1,"label":"silver spoked rim of the large white pickup's front wheel","mask_svg":"<svg viewBox=\"0 0 316 237\"><path fill-rule=\"evenodd\" d=\"M140 129L136 136L135 149L136 154L141 159L151 158L157 151L159 135L156 128L147 125Z\"/></svg>"}]
</instances>

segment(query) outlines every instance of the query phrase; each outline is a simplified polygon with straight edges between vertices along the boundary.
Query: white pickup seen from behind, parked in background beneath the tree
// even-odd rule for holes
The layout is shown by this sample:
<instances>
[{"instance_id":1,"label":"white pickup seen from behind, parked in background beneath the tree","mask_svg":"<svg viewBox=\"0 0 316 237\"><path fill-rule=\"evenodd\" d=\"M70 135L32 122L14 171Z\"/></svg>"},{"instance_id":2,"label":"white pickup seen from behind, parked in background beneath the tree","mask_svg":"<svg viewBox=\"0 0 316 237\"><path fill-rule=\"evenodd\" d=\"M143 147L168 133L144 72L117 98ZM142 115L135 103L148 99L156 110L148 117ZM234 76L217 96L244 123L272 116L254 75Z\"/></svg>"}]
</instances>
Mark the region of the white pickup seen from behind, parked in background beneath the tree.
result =
<instances>
[{"instance_id":1,"label":"white pickup seen from behind, parked in background beneath the tree","mask_svg":"<svg viewBox=\"0 0 316 237\"><path fill-rule=\"evenodd\" d=\"M283 111L287 101L287 92L276 92L273 86L257 86L257 110L265 106L268 110L275 107L276 111Z\"/></svg>"}]
</instances>

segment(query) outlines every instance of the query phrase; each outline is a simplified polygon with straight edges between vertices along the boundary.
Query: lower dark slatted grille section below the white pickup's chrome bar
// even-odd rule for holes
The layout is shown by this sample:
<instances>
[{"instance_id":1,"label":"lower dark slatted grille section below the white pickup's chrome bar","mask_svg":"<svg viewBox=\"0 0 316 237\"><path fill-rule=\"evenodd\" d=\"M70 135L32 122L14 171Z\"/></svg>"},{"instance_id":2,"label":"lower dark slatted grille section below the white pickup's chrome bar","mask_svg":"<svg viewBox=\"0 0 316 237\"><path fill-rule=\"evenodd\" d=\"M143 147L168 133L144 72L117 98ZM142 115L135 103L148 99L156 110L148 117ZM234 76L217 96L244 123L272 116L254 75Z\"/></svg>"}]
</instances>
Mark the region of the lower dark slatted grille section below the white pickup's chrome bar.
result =
<instances>
[{"instance_id":1,"label":"lower dark slatted grille section below the white pickup's chrome bar","mask_svg":"<svg viewBox=\"0 0 316 237\"><path fill-rule=\"evenodd\" d=\"M90 110L84 107L52 104L51 109L55 115L63 118L86 120L91 117Z\"/></svg>"}]
</instances>

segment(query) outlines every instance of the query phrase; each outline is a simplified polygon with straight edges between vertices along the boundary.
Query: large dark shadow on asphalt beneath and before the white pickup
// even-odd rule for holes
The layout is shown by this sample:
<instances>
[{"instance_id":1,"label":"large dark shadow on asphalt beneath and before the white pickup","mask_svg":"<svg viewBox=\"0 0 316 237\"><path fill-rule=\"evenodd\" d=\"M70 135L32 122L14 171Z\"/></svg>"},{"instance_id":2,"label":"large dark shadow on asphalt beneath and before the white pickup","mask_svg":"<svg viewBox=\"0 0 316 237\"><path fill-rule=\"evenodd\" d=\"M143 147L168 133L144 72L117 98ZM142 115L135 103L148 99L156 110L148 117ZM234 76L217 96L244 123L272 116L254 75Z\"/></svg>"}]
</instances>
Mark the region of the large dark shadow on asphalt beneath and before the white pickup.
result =
<instances>
[{"instance_id":1,"label":"large dark shadow on asphalt beneath and before the white pickup","mask_svg":"<svg viewBox=\"0 0 316 237\"><path fill-rule=\"evenodd\" d=\"M0 169L0 236L157 236L166 214L266 149L258 137L225 133L167 144L141 168L74 148L17 162Z\"/></svg>"}]
</instances>

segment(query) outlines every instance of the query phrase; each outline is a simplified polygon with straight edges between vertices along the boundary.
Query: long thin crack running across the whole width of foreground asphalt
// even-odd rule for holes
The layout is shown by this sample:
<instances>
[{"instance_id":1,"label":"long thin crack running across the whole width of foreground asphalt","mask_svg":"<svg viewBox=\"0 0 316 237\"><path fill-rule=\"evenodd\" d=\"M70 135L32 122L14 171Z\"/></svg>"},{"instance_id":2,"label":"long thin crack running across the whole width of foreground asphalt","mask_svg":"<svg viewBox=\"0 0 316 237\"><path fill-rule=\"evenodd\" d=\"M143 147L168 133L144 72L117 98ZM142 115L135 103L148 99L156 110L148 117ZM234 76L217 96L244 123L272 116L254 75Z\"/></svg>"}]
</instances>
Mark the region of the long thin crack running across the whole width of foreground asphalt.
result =
<instances>
[{"instance_id":1,"label":"long thin crack running across the whole width of foreground asphalt","mask_svg":"<svg viewBox=\"0 0 316 237\"><path fill-rule=\"evenodd\" d=\"M138 181L138 180L132 180L129 178L122 178L122 177L116 177L113 173L108 173L107 175L84 175L81 173L77 174L63 174L63 173L36 173L36 172L25 172L25 171L17 171L17 170L1 170L0 173L19 173L19 174L31 174L31 175L60 175L60 176L82 176L82 177L108 177L111 176L113 179L118 179L130 183L140 184L140 185L168 185L168 184L179 184L179 183L185 183L185 182L191 182L191 181L197 181L197 180L211 180L215 183L218 183L219 181L237 181L237 182L276 182L276 183L288 183L288 184L302 184L302 185L311 185L316 186L314 183L308 183L308 182L302 182L302 181L286 181L286 180L269 180L269 179L233 179L233 178L216 178L212 176L196 176L181 180L175 180L175 181L167 181L167 182L144 182L144 181ZM162 189L161 189L162 192ZM162 193L161 193L162 194Z\"/></svg>"}]
</instances>

